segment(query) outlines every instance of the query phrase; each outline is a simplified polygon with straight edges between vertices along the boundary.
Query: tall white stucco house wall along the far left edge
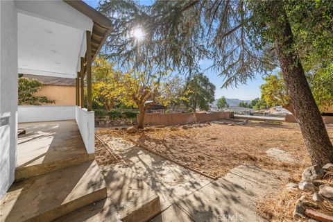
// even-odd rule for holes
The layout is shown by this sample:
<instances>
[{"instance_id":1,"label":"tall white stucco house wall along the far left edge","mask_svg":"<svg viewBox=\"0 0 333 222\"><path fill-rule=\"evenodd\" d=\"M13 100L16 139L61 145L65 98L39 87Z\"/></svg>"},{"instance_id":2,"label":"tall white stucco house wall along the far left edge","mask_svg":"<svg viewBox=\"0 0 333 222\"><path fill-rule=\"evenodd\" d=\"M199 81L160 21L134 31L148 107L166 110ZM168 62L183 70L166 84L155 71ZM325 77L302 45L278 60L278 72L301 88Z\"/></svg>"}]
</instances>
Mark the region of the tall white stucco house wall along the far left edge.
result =
<instances>
[{"instance_id":1,"label":"tall white stucco house wall along the far left edge","mask_svg":"<svg viewBox=\"0 0 333 222\"><path fill-rule=\"evenodd\" d=\"M17 10L0 1L0 200L15 179L17 163Z\"/></svg>"}]
</instances>

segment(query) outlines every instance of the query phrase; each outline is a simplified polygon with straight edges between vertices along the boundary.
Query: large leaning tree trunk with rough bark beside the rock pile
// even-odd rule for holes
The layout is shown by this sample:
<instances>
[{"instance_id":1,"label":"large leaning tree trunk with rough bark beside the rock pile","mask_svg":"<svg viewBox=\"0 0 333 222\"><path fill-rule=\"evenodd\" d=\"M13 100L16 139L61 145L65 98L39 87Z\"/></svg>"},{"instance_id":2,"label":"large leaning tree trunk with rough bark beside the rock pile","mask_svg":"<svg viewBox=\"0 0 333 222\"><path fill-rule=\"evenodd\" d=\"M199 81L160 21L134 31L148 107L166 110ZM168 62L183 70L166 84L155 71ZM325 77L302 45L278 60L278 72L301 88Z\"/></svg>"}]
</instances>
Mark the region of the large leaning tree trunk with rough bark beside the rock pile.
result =
<instances>
[{"instance_id":1,"label":"large leaning tree trunk with rough bark beside the rock pile","mask_svg":"<svg viewBox=\"0 0 333 222\"><path fill-rule=\"evenodd\" d=\"M275 36L275 51L280 60L290 103L300 125L312 164L323 166L327 162L333 162L333 146L327 135L321 112L311 94L298 52L293 49L293 33L283 7L278 13L280 15L273 24L274 28L280 31ZM282 22L278 19L281 15Z\"/></svg>"}]
</instances>

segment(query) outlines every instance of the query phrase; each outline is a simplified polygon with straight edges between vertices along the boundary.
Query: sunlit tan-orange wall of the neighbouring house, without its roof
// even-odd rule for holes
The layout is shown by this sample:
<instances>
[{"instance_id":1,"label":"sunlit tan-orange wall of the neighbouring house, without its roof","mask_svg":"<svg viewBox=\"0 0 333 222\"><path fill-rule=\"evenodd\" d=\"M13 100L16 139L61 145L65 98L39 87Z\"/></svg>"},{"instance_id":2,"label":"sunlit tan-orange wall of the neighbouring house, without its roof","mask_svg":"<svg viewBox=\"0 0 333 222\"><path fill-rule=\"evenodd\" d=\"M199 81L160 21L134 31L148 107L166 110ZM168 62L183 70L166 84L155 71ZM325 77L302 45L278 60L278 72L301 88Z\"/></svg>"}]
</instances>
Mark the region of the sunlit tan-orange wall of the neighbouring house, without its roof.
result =
<instances>
[{"instance_id":1,"label":"sunlit tan-orange wall of the neighbouring house, without its roof","mask_svg":"<svg viewBox=\"0 0 333 222\"><path fill-rule=\"evenodd\" d=\"M56 101L56 103L44 105L75 105L75 89L75 86L43 85L34 96L46 96L47 99Z\"/></svg>"}]
</instances>

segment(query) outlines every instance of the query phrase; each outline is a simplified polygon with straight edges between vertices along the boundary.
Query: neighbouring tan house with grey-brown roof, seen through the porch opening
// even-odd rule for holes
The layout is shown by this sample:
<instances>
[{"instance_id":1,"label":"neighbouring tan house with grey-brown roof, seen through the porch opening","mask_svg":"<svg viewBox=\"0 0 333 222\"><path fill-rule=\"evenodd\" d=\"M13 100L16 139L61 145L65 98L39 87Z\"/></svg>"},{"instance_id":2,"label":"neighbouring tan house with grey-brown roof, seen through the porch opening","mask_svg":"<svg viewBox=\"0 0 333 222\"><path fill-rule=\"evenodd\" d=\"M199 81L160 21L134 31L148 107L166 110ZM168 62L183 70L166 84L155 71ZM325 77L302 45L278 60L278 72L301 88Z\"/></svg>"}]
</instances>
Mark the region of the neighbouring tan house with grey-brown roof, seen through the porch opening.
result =
<instances>
[{"instance_id":1,"label":"neighbouring tan house with grey-brown roof, seen through the porch opening","mask_svg":"<svg viewBox=\"0 0 333 222\"><path fill-rule=\"evenodd\" d=\"M35 78L43 83L35 96L46 96L47 99L55 100L56 103L45 105L76 105L76 82L75 78L63 78L54 76L39 76L24 74L24 78Z\"/></svg>"}]
</instances>

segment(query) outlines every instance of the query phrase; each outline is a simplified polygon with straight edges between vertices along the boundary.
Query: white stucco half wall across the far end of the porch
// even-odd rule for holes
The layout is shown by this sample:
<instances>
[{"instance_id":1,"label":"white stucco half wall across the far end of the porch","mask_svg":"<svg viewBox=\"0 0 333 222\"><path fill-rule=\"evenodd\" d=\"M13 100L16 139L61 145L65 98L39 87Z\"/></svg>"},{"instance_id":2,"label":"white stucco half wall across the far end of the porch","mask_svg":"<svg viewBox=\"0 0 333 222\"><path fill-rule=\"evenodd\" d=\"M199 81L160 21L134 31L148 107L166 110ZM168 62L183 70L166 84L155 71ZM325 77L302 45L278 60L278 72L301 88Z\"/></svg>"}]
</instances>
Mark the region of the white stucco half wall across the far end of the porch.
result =
<instances>
[{"instance_id":1,"label":"white stucco half wall across the far end of the porch","mask_svg":"<svg viewBox=\"0 0 333 222\"><path fill-rule=\"evenodd\" d=\"M19 123L75 119L75 105L19 105Z\"/></svg>"}]
</instances>

